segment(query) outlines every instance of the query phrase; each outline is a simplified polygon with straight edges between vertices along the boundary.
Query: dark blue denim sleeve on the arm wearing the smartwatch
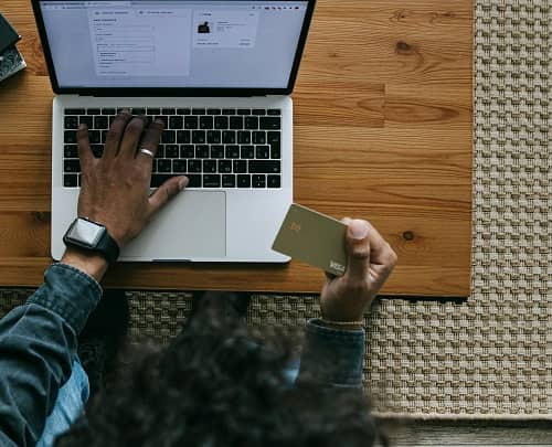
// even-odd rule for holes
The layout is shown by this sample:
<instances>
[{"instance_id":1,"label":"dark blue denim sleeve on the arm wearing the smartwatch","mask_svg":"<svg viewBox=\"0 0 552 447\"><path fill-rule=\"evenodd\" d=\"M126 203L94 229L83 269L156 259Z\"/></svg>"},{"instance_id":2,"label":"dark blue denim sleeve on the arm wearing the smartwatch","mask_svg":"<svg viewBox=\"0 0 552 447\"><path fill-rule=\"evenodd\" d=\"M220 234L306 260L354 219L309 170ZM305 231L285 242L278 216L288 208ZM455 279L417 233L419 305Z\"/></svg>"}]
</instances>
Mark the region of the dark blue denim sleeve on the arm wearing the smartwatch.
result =
<instances>
[{"instance_id":1,"label":"dark blue denim sleeve on the arm wearing the smartwatch","mask_svg":"<svg viewBox=\"0 0 552 447\"><path fill-rule=\"evenodd\" d=\"M54 264L26 304L0 320L0 445L34 446L71 375L77 337L102 288Z\"/></svg>"}]
</instances>

